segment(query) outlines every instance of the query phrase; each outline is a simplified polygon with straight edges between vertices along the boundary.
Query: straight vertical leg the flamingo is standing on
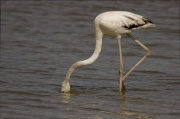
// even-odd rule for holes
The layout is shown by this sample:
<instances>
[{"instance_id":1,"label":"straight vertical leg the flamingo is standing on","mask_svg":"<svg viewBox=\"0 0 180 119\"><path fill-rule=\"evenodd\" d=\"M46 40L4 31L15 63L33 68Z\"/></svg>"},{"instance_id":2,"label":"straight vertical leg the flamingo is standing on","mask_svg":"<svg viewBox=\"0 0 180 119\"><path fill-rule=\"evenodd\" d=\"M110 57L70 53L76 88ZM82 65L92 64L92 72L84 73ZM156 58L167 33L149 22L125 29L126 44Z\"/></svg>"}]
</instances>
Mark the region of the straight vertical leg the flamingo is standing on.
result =
<instances>
[{"instance_id":1,"label":"straight vertical leg the flamingo is standing on","mask_svg":"<svg viewBox=\"0 0 180 119\"><path fill-rule=\"evenodd\" d=\"M118 39L118 45L119 45L119 59L120 59L120 68L119 68L119 90L120 92L125 91L125 86L123 83L123 60L122 60L122 49L121 49L121 36L117 37Z\"/></svg>"}]
</instances>

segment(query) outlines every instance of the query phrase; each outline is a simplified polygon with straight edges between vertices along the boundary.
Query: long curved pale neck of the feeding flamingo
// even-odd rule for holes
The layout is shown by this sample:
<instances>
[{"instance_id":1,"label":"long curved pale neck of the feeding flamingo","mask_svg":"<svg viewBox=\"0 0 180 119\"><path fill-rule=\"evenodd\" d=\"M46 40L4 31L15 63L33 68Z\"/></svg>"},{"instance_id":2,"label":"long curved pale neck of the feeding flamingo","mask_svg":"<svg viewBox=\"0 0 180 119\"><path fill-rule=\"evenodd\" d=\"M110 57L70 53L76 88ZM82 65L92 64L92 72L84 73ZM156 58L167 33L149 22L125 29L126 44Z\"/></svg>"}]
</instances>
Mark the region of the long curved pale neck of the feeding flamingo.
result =
<instances>
[{"instance_id":1,"label":"long curved pale neck of the feeding flamingo","mask_svg":"<svg viewBox=\"0 0 180 119\"><path fill-rule=\"evenodd\" d=\"M102 47L102 37L103 37L103 35L101 33L96 34L96 45L95 45L94 53L92 54L92 56L89 59L86 59L83 61L78 61L78 62L74 63L69 68L68 72L66 73L66 77L64 80L65 82L69 82L70 76L71 76L72 72L74 71L74 69L84 66L84 65L92 64L99 57L99 54L101 52L101 47Z\"/></svg>"}]
</instances>

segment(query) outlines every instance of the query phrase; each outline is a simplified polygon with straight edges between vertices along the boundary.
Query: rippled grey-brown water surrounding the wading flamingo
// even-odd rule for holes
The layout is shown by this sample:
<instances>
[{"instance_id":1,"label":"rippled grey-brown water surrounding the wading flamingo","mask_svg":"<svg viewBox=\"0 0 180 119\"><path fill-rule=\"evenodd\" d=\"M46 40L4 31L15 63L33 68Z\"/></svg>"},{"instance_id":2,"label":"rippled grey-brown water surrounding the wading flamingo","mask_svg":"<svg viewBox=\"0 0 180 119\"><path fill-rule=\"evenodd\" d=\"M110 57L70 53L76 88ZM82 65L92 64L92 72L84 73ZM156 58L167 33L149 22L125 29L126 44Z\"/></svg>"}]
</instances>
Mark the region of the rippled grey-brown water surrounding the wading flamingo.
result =
<instances>
[{"instance_id":1,"label":"rippled grey-brown water surrounding the wading flamingo","mask_svg":"<svg viewBox=\"0 0 180 119\"><path fill-rule=\"evenodd\" d=\"M117 40L104 37L95 63L72 74L71 93L61 94L66 71L94 50L94 18L130 11L156 28L132 33L152 52L125 80L119 94ZM123 36L124 72L144 54ZM179 2L2 1L0 117L2 119L178 119Z\"/></svg>"}]
</instances>

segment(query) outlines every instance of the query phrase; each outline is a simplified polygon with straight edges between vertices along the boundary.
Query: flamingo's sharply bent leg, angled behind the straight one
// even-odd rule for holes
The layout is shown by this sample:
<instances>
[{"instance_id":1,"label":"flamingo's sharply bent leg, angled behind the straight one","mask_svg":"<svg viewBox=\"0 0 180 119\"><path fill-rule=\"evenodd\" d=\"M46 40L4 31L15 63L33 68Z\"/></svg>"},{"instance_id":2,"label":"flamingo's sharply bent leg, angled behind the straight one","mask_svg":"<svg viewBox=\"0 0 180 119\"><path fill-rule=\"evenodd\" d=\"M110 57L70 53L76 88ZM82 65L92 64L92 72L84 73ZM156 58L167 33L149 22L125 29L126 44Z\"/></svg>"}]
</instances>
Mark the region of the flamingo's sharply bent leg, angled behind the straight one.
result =
<instances>
[{"instance_id":1,"label":"flamingo's sharply bent leg, angled behind the straight one","mask_svg":"<svg viewBox=\"0 0 180 119\"><path fill-rule=\"evenodd\" d=\"M122 81L125 80L125 78L142 62L146 59L146 57L148 57L151 53L151 51L146 47L144 46L141 42L139 42L138 40L136 40L132 35L130 34L126 34L128 37L130 37L132 40L134 40L137 44L139 44L144 50L146 50L146 54L144 55L144 57L139 60L139 62L137 62L137 64L131 68L131 70L129 70L129 72L123 77Z\"/></svg>"}]
</instances>

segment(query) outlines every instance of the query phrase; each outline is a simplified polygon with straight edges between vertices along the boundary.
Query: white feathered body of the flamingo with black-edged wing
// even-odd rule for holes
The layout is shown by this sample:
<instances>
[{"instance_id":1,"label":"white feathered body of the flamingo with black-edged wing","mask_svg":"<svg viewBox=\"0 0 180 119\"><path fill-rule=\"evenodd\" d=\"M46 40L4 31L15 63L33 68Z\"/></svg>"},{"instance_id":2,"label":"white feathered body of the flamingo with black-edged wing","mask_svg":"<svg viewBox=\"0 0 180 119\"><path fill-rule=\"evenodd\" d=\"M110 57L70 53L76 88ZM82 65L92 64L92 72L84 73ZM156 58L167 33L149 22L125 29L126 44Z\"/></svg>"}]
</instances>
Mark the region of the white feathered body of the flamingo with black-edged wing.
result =
<instances>
[{"instance_id":1,"label":"white feathered body of the flamingo with black-edged wing","mask_svg":"<svg viewBox=\"0 0 180 119\"><path fill-rule=\"evenodd\" d=\"M139 28L155 27L149 19L126 11L104 12L95 18L105 36L118 36L130 33Z\"/></svg>"}]
</instances>

